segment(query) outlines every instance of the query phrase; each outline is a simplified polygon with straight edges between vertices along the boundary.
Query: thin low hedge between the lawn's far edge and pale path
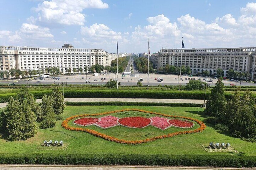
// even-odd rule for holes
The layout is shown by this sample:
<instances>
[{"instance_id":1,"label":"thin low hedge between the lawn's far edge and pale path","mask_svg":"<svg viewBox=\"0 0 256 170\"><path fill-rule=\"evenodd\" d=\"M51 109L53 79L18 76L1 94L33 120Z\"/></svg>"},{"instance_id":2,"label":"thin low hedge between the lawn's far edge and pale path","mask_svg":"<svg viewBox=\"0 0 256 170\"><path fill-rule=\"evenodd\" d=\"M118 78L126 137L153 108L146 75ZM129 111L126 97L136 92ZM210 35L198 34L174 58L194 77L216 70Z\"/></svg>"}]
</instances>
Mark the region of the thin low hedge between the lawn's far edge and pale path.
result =
<instances>
[{"instance_id":1,"label":"thin low hedge between the lawn's far edge and pale path","mask_svg":"<svg viewBox=\"0 0 256 170\"><path fill-rule=\"evenodd\" d=\"M170 106L170 107L202 107L195 103L150 103L150 102L66 102L67 106Z\"/></svg>"}]
</instances>

